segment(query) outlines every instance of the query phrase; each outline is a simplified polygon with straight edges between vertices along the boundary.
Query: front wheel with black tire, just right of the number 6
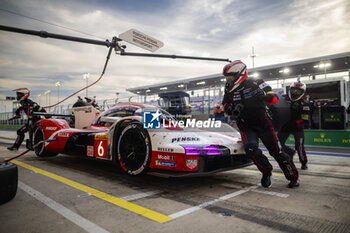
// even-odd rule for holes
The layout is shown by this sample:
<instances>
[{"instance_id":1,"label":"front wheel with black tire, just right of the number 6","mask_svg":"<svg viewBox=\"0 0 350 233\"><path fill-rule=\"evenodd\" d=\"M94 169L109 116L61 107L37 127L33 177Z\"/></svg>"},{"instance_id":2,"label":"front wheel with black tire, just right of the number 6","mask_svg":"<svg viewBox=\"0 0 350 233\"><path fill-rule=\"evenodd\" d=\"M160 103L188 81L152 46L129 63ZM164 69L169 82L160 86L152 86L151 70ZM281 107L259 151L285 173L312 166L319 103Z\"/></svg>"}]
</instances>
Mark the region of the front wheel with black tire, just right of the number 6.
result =
<instances>
[{"instance_id":1,"label":"front wheel with black tire, just right of the number 6","mask_svg":"<svg viewBox=\"0 0 350 233\"><path fill-rule=\"evenodd\" d=\"M152 157L147 130L138 122L129 123L121 132L117 145L118 160L129 175L145 174Z\"/></svg>"}]
</instances>

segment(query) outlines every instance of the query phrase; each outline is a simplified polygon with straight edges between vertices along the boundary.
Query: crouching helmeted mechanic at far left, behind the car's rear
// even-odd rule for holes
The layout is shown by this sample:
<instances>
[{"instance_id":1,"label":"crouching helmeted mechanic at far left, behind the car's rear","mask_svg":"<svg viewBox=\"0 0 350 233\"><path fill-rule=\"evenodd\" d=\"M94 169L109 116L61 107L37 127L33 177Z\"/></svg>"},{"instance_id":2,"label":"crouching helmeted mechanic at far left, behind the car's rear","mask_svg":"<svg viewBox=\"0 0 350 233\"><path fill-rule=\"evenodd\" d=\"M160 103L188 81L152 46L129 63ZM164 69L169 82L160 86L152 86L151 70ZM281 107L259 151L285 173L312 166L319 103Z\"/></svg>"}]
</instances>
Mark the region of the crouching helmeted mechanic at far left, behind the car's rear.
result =
<instances>
[{"instance_id":1,"label":"crouching helmeted mechanic at far left, behind the car's rear","mask_svg":"<svg viewBox=\"0 0 350 233\"><path fill-rule=\"evenodd\" d=\"M40 120L38 116L31 116L32 112L46 112L45 109L40 107L37 103L28 99L30 95L30 91L27 88L19 88L15 89L16 91L16 99L20 103L20 107L16 110L15 116L10 118L9 121L20 118L21 113L24 112L27 114L28 122L17 130L17 138L15 143L11 147L7 147L8 150L18 150L20 145L24 140L24 134L29 131L32 124ZM31 135L29 135L31 139Z\"/></svg>"}]
</instances>

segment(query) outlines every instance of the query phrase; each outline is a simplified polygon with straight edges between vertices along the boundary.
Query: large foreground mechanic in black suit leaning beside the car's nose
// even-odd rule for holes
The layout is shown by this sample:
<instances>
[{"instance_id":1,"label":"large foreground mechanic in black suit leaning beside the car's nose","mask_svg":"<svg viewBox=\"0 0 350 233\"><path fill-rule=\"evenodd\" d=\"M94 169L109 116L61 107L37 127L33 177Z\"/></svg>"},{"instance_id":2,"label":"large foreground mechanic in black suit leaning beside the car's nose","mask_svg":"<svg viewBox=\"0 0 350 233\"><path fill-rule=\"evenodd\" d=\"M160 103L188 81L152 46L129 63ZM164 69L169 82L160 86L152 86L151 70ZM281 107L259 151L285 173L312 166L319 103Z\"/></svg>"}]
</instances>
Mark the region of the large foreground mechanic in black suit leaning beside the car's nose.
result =
<instances>
[{"instance_id":1,"label":"large foreground mechanic in black suit leaning beside the car's nose","mask_svg":"<svg viewBox=\"0 0 350 233\"><path fill-rule=\"evenodd\" d=\"M262 173L261 185L266 188L271 185L272 165L259 149L259 138L290 181L288 187L298 187L298 171L293 160L281 150L267 113L266 104L277 103L277 95L262 79L249 79L247 66L240 60L226 65L223 75L227 82L222 104L225 112L235 117L245 152Z\"/></svg>"}]
</instances>

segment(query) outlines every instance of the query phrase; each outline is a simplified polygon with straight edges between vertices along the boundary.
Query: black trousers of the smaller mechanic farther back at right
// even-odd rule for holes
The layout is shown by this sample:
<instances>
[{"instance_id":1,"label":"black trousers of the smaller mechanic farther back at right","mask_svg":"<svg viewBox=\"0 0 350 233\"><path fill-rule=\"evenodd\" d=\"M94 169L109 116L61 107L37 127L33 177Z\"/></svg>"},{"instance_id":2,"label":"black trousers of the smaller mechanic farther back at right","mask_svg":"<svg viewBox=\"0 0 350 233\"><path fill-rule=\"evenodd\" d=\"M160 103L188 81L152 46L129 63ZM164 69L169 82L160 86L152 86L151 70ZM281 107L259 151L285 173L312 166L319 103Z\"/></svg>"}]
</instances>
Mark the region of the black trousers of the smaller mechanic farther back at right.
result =
<instances>
[{"instance_id":1,"label":"black trousers of the smaller mechanic farther back at right","mask_svg":"<svg viewBox=\"0 0 350 233\"><path fill-rule=\"evenodd\" d=\"M281 130L278 132L278 139L281 142L282 149L284 151L290 150L288 146L285 145L285 142L287 141L287 138L289 135L292 134L294 136L295 141L295 150L298 152L299 161L302 165L307 164L307 157L305 153L305 147L304 147L304 125L302 123L297 124L296 122L287 122L285 125L282 126Z\"/></svg>"}]
</instances>

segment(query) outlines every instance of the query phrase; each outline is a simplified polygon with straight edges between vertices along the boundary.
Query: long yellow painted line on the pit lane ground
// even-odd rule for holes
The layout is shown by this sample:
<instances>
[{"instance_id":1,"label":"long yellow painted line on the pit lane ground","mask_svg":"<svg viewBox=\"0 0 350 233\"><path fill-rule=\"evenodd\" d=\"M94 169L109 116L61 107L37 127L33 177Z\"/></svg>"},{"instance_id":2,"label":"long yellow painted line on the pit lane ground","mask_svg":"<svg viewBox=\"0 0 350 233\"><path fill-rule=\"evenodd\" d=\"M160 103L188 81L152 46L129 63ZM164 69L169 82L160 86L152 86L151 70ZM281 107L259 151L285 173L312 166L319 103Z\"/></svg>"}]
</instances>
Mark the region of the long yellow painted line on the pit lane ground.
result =
<instances>
[{"instance_id":1,"label":"long yellow painted line on the pit lane ground","mask_svg":"<svg viewBox=\"0 0 350 233\"><path fill-rule=\"evenodd\" d=\"M51 179L54 179L56 181L59 181L59 182L64 183L66 185L69 185L69 186L71 186L73 188L81 190L81 191L83 191L85 193L90 193L92 196L100 198L100 199L102 199L104 201L112 203L112 204L114 204L116 206L119 206L119 207L121 207L123 209L129 210L129 211L134 212L136 214L142 215L142 216L144 216L146 218L149 218L151 220L154 220L156 222L164 223L164 222L168 222L168 221L172 220L171 217L166 216L164 214L161 214L161 213L158 213L156 211L153 211L153 210L144 208L142 206L133 204L131 202L128 202L128 201L125 201L125 200L120 199L118 197L112 196L110 194L101 192L101 191L99 191L97 189L94 189L94 188L91 188L89 186L80 184L78 182L69 180L67 178L64 178L62 176L56 175L54 173L47 172L47 171L42 170L40 168L33 167L33 166L29 165L29 164L25 164L25 163L20 162L18 160L12 160L12 162L17 164L17 165L19 165L19 166L21 166L21 167L27 168L27 169L29 169L31 171L35 171L35 172L37 172L37 173L39 173L41 175L47 176L47 177L49 177Z\"/></svg>"}]
</instances>

